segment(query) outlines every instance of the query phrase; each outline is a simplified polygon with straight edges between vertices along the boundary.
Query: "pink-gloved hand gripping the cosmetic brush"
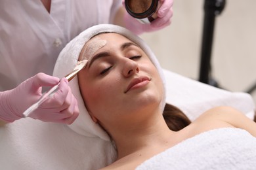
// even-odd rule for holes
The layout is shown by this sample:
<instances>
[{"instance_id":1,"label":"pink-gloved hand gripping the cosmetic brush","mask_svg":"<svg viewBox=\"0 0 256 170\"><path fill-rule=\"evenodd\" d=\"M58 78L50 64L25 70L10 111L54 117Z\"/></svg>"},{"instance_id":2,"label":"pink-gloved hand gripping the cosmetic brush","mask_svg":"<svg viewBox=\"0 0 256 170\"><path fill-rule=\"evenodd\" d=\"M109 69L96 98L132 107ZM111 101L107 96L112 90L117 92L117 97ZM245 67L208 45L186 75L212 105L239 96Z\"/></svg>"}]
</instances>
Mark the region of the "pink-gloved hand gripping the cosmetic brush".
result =
<instances>
[{"instance_id":1,"label":"pink-gloved hand gripping the cosmetic brush","mask_svg":"<svg viewBox=\"0 0 256 170\"><path fill-rule=\"evenodd\" d=\"M58 82L59 78L38 73L16 88L0 92L0 119L14 122L22 118L22 113L41 97L42 86L54 86ZM43 122L72 124L78 114L77 101L68 86L68 80L62 78L53 97L44 101L30 117Z\"/></svg>"}]
</instances>

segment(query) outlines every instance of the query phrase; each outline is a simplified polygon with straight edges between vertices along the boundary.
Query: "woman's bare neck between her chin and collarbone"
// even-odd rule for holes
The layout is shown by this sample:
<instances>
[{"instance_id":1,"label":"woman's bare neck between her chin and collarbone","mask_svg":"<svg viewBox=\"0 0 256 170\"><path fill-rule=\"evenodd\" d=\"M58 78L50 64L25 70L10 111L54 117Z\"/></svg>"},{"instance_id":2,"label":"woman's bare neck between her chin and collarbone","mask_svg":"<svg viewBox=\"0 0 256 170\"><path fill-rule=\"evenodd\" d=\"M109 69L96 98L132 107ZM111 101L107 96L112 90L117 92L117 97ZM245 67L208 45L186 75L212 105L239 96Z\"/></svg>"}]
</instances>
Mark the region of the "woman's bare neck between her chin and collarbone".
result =
<instances>
[{"instance_id":1,"label":"woman's bare neck between her chin and collarbone","mask_svg":"<svg viewBox=\"0 0 256 170\"><path fill-rule=\"evenodd\" d=\"M113 137L117 150L118 158L123 158L129 154L140 152L145 148L156 148L167 144L172 135L175 134L167 127L161 114L153 116L150 120L144 120L137 124L126 127L125 133L120 131Z\"/></svg>"}]
</instances>

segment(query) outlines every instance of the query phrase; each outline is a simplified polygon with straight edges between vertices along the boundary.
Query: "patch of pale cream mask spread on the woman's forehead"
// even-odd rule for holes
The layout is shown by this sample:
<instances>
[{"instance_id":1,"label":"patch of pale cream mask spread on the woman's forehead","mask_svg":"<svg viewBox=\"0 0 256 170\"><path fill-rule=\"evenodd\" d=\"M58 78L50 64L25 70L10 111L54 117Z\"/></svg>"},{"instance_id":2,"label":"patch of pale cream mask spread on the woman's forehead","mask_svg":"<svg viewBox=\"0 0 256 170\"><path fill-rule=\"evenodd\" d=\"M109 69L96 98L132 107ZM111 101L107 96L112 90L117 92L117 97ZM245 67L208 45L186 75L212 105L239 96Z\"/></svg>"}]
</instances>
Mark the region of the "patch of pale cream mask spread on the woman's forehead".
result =
<instances>
[{"instance_id":1,"label":"patch of pale cream mask spread on the woman's forehead","mask_svg":"<svg viewBox=\"0 0 256 170\"><path fill-rule=\"evenodd\" d=\"M89 41L89 44L85 44L85 50L83 50L80 60L90 60L93 57L93 54L95 54L98 49L105 46L106 43L106 40L100 39L100 37L94 37Z\"/></svg>"}]
</instances>

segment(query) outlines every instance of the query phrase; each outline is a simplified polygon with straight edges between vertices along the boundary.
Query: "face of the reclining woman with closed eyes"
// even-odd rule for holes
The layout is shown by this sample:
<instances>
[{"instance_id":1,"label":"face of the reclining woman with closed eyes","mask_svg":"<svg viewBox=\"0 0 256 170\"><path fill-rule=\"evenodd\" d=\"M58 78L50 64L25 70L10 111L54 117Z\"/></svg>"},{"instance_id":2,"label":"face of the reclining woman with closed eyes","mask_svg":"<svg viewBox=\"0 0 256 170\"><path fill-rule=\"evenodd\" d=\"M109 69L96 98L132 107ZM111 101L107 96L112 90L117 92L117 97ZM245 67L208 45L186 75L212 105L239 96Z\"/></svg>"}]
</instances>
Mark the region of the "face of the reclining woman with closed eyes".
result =
<instances>
[{"instance_id":1,"label":"face of the reclining woman with closed eyes","mask_svg":"<svg viewBox=\"0 0 256 170\"><path fill-rule=\"evenodd\" d=\"M93 120L106 128L160 110L162 80L143 50L117 33L97 35L83 50L95 39L106 44L78 74L81 95Z\"/></svg>"}]
</instances>

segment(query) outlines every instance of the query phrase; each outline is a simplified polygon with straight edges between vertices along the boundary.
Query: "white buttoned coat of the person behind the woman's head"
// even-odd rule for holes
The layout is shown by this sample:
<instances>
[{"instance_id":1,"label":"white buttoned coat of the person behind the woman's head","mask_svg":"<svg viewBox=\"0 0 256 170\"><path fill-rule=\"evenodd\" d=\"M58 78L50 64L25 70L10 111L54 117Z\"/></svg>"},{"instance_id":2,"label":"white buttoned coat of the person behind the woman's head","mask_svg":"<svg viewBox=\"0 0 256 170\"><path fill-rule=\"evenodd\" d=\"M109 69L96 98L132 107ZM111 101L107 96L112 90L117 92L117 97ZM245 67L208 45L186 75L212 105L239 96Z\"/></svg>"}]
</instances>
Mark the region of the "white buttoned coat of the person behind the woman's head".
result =
<instances>
[{"instance_id":1,"label":"white buttoned coat of the person behind the woman's head","mask_svg":"<svg viewBox=\"0 0 256 170\"><path fill-rule=\"evenodd\" d=\"M0 1L0 91L39 73L53 74L58 54L84 29L111 24L121 0Z\"/></svg>"}]
</instances>

